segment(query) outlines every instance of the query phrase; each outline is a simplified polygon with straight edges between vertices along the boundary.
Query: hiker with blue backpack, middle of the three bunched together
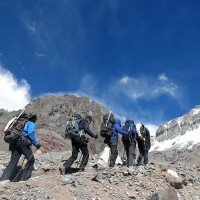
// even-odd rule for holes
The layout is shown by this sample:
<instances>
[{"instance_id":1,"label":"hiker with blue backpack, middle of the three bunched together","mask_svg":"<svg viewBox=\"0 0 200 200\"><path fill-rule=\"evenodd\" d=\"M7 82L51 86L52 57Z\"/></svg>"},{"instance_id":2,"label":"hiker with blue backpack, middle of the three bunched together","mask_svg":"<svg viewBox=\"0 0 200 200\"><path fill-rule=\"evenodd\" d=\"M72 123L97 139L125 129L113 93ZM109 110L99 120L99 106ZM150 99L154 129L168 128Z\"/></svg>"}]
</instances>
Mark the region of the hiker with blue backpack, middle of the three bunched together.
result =
<instances>
[{"instance_id":1,"label":"hiker with blue backpack, middle of the three bunched together","mask_svg":"<svg viewBox=\"0 0 200 200\"><path fill-rule=\"evenodd\" d=\"M127 167L135 165L135 150L136 150L136 126L133 120L127 119L123 126L123 130L129 132L129 135L122 136L122 143L126 152Z\"/></svg>"}]
</instances>

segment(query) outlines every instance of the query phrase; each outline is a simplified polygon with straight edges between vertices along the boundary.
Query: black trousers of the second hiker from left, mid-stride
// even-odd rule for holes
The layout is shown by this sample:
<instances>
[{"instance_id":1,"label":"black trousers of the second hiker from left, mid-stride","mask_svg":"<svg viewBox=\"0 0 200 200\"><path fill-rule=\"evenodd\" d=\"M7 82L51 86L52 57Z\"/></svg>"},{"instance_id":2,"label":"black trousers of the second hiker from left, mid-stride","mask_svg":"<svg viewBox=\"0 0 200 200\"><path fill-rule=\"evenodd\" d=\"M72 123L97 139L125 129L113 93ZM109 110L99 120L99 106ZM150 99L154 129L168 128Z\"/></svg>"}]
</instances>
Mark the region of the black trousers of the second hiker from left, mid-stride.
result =
<instances>
[{"instance_id":1,"label":"black trousers of the second hiker from left, mid-stride","mask_svg":"<svg viewBox=\"0 0 200 200\"><path fill-rule=\"evenodd\" d=\"M78 139L72 139L72 155L71 157L63 164L64 167L68 168L71 167L74 163L74 161L78 157L78 152L81 150L83 157L81 159L80 163L80 170L84 170L88 160L89 160L89 151L88 146L86 142L81 142Z\"/></svg>"}]
</instances>

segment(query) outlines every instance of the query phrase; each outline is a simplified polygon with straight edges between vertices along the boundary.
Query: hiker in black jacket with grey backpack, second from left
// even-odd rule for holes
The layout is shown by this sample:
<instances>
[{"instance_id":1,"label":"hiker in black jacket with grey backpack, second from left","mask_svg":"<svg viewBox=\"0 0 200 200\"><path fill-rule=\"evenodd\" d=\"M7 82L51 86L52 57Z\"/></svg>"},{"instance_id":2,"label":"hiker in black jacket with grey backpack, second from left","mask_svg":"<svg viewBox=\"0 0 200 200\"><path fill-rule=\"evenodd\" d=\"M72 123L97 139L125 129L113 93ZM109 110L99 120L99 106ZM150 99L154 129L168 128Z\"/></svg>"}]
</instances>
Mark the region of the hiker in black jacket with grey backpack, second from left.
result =
<instances>
[{"instance_id":1,"label":"hiker in black jacket with grey backpack, second from left","mask_svg":"<svg viewBox=\"0 0 200 200\"><path fill-rule=\"evenodd\" d=\"M91 122L92 117L90 115L87 115L85 118L82 118L79 114L73 116L72 120L67 122L65 137L71 139L72 155L63 164L63 167L59 168L59 171L62 175L65 175L67 170L69 170L69 168L73 165L73 163L78 157L79 150L81 150L83 156L78 170L85 170L85 167L89 160L88 138L86 138L85 135L88 134L92 138L98 138L98 134L94 134L90 130L89 125L91 124Z\"/></svg>"}]
</instances>

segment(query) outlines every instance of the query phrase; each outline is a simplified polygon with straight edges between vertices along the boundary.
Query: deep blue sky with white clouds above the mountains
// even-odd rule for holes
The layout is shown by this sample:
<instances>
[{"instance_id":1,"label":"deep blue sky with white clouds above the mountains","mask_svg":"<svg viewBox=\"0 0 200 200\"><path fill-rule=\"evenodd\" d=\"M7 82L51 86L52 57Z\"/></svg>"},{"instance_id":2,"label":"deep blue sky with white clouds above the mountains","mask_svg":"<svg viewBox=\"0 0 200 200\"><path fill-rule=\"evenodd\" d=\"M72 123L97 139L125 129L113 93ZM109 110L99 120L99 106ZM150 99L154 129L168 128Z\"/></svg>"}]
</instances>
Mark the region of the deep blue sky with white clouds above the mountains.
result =
<instances>
[{"instance_id":1,"label":"deep blue sky with white clouds above the mountains","mask_svg":"<svg viewBox=\"0 0 200 200\"><path fill-rule=\"evenodd\" d=\"M0 107L72 93L154 129L182 116L199 104L199 10L197 0L1 0Z\"/></svg>"}]
</instances>

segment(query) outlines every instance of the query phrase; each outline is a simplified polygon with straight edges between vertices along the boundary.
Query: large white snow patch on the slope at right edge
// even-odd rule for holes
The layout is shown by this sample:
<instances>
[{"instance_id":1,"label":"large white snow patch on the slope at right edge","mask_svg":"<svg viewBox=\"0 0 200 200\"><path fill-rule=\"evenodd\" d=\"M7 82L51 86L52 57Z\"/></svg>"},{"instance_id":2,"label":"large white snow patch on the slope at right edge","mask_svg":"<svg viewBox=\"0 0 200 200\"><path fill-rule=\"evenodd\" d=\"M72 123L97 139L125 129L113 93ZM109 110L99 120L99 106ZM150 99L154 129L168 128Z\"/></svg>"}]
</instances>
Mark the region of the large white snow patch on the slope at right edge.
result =
<instances>
[{"instance_id":1,"label":"large white snow patch on the slope at right edge","mask_svg":"<svg viewBox=\"0 0 200 200\"><path fill-rule=\"evenodd\" d=\"M187 131L184 135L179 135L173 139L159 142L154 141L151 151L165 151L168 149L192 149L195 145L200 145L200 127Z\"/></svg>"}]
</instances>

